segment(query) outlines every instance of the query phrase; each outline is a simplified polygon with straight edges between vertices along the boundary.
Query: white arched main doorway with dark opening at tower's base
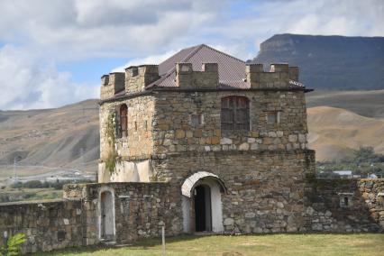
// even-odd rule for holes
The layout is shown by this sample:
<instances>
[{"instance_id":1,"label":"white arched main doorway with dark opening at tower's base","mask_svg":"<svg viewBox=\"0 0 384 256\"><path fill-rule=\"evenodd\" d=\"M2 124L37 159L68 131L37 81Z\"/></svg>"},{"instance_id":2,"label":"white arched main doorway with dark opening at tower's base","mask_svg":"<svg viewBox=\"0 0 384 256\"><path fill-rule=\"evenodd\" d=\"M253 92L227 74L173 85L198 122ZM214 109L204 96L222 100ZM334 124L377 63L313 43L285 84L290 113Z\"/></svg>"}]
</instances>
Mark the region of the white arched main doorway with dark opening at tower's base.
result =
<instances>
[{"instance_id":1,"label":"white arched main doorway with dark opening at tower's base","mask_svg":"<svg viewBox=\"0 0 384 256\"><path fill-rule=\"evenodd\" d=\"M184 181L181 192L185 233L224 231L223 180L213 173L199 171Z\"/></svg>"}]
</instances>

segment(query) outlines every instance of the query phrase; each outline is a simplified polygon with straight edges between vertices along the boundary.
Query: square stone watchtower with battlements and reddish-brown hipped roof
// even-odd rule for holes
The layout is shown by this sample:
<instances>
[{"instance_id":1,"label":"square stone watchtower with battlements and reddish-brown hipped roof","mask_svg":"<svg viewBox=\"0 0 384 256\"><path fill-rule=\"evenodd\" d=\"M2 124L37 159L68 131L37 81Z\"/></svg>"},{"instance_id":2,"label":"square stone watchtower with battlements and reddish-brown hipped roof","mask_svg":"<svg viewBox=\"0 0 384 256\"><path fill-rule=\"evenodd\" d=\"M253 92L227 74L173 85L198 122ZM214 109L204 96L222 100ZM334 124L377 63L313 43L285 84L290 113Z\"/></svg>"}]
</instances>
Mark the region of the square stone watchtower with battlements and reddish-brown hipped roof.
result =
<instances>
[{"instance_id":1,"label":"square stone watchtower with battlements and reddish-brown hipped roof","mask_svg":"<svg viewBox=\"0 0 384 256\"><path fill-rule=\"evenodd\" d=\"M299 231L309 90L264 68L198 45L103 76L98 181L169 183L175 233Z\"/></svg>"}]
</instances>

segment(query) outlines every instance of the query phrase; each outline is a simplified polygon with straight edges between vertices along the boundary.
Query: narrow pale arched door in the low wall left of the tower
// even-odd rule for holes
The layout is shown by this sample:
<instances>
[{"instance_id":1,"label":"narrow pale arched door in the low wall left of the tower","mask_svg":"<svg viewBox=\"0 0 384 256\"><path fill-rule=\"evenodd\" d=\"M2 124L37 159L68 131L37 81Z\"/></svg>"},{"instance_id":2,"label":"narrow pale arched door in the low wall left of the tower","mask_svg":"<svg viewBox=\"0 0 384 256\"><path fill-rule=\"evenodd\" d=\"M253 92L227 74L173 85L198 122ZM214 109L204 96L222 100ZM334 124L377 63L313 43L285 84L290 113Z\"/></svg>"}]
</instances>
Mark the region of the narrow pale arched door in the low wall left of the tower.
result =
<instances>
[{"instance_id":1,"label":"narrow pale arched door in the low wall left of the tower","mask_svg":"<svg viewBox=\"0 0 384 256\"><path fill-rule=\"evenodd\" d=\"M114 191L102 189L99 196L99 239L114 240Z\"/></svg>"}]
</instances>

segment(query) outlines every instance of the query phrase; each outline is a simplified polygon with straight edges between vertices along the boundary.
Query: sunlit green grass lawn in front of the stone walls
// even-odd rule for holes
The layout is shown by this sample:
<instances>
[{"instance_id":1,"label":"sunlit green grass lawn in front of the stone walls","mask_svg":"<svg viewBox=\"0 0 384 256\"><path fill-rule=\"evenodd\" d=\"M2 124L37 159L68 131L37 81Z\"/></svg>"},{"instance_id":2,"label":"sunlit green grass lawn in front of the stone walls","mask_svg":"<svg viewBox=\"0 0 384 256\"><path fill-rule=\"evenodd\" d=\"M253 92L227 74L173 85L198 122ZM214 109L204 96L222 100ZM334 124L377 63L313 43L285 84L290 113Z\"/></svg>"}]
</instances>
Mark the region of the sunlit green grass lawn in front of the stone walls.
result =
<instances>
[{"instance_id":1,"label":"sunlit green grass lawn in front of the stone walls","mask_svg":"<svg viewBox=\"0 0 384 256\"><path fill-rule=\"evenodd\" d=\"M261 234L166 238L167 255L384 255L384 233ZM160 239L120 248L81 248L38 255L161 255Z\"/></svg>"}]
</instances>

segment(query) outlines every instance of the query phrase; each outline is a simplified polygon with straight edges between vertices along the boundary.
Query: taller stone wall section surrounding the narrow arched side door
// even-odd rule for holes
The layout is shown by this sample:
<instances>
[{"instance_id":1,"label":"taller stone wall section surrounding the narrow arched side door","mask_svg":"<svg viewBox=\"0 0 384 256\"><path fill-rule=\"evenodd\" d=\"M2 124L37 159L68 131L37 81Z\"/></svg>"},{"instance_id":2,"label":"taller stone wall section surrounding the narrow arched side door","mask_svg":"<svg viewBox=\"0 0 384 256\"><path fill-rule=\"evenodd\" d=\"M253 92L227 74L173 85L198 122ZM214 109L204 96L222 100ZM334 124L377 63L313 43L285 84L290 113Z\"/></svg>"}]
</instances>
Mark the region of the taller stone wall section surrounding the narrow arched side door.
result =
<instances>
[{"instance_id":1,"label":"taller stone wall section surrounding the narrow arched side door","mask_svg":"<svg viewBox=\"0 0 384 256\"><path fill-rule=\"evenodd\" d=\"M179 193L177 187L168 183L119 182L108 184L78 184L64 188L64 197L82 197L89 206L93 217L88 224L96 227L93 236L98 237L99 196L101 191L114 192L115 241L133 242L139 238L160 236L161 226L165 225L167 235L181 233L182 219L178 214Z\"/></svg>"}]
</instances>

